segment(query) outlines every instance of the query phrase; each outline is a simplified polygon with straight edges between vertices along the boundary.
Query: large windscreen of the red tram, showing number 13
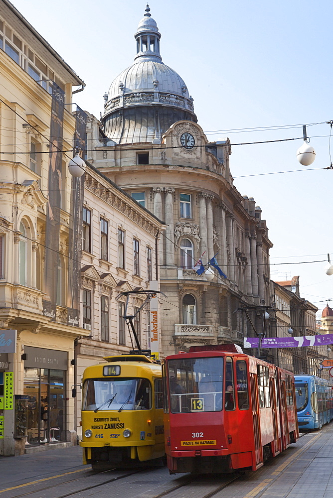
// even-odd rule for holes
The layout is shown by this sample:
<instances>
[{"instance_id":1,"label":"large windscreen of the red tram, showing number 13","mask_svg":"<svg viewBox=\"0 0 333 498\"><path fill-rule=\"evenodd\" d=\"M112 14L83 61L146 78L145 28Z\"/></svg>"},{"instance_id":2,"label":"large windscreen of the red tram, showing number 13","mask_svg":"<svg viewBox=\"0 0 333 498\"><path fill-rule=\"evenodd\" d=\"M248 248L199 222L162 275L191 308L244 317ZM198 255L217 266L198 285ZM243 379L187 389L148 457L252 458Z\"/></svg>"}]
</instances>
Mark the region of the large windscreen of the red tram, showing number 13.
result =
<instances>
[{"instance_id":1,"label":"large windscreen of the red tram, showing number 13","mask_svg":"<svg viewBox=\"0 0 333 498\"><path fill-rule=\"evenodd\" d=\"M223 358L186 358L167 365L172 413L222 410Z\"/></svg>"}]
</instances>

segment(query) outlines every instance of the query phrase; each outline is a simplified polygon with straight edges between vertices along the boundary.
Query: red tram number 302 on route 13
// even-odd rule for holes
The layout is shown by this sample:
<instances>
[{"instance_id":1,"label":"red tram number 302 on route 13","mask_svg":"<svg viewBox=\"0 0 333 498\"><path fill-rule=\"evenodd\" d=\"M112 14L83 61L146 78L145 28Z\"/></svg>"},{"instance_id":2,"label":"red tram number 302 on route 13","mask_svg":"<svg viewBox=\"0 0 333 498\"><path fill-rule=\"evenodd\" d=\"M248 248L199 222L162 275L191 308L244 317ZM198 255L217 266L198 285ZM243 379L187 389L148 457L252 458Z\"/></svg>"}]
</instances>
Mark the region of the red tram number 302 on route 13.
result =
<instances>
[{"instance_id":1,"label":"red tram number 302 on route 13","mask_svg":"<svg viewBox=\"0 0 333 498\"><path fill-rule=\"evenodd\" d=\"M234 344L163 362L170 474L259 469L299 437L294 375Z\"/></svg>"}]
</instances>

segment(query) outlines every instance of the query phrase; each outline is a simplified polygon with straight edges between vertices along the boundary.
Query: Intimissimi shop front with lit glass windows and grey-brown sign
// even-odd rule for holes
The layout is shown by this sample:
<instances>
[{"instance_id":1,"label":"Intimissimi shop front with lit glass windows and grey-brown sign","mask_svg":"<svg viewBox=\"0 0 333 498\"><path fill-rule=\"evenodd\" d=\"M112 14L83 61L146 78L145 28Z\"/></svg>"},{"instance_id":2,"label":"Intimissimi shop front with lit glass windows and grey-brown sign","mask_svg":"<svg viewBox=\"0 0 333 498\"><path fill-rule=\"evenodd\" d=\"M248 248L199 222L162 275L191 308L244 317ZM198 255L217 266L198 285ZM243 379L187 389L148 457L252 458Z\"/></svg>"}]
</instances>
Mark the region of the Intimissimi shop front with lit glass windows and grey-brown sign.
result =
<instances>
[{"instance_id":1,"label":"Intimissimi shop front with lit glass windows and grey-brown sign","mask_svg":"<svg viewBox=\"0 0 333 498\"><path fill-rule=\"evenodd\" d=\"M15 395L15 437L25 436L26 445L66 441L68 353L25 346L23 358L23 393Z\"/></svg>"}]
</instances>

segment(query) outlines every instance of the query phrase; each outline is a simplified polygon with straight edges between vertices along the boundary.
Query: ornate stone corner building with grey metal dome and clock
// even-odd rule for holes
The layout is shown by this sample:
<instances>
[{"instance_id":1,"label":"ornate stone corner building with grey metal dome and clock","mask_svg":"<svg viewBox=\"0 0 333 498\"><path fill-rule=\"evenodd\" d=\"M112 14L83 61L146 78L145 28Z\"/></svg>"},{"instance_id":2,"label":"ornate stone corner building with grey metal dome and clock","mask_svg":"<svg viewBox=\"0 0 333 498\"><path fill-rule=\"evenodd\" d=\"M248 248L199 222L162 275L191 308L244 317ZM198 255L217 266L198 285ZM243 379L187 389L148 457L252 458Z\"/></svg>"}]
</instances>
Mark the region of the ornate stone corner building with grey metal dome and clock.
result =
<instances>
[{"instance_id":1,"label":"ornate stone corner building with grey metal dome and clock","mask_svg":"<svg viewBox=\"0 0 333 498\"><path fill-rule=\"evenodd\" d=\"M236 310L271 305L272 244L260 207L233 185L229 139L207 139L185 82L162 61L160 39L147 5L135 33L134 63L105 94L101 120L91 117L88 161L166 224L155 234L156 247L135 239L134 253L113 263L121 280L127 261L139 261L133 288L147 278L152 285L160 280L166 295L160 298L164 357L191 345L242 345L244 336L253 335ZM126 227L119 226L110 243L121 252L126 237ZM196 271L200 257L203 272ZM152 262L149 276L140 273L146 258ZM208 269L209 262L216 265ZM258 313L252 318L261 330ZM266 331L269 335L270 320Z\"/></svg>"}]
</instances>

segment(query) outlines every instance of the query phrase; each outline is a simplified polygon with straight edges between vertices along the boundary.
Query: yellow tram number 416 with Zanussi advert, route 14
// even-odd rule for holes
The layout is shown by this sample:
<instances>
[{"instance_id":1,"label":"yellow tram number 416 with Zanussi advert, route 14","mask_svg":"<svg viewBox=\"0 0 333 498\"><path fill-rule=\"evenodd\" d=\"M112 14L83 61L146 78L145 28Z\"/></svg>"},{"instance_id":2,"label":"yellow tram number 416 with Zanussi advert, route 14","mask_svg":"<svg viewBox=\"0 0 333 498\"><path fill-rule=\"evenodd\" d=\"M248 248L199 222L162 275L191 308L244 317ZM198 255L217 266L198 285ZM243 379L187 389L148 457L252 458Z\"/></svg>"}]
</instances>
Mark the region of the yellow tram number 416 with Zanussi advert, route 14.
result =
<instances>
[{"instance_id":1,"label":"yellow tram number 416 with Zanussi advert, route 14","mask_svg":"<svg viewBox=\"0 0 333 498\"><path fill-rule=\"evenodd\" d=\"M161 366L143 354L104 360L83 373L83 463L106 470L163 457Z\"/></svg>"}]
</instances>

